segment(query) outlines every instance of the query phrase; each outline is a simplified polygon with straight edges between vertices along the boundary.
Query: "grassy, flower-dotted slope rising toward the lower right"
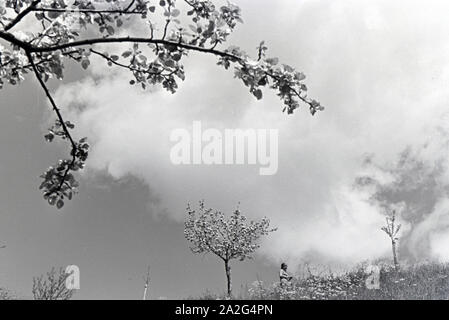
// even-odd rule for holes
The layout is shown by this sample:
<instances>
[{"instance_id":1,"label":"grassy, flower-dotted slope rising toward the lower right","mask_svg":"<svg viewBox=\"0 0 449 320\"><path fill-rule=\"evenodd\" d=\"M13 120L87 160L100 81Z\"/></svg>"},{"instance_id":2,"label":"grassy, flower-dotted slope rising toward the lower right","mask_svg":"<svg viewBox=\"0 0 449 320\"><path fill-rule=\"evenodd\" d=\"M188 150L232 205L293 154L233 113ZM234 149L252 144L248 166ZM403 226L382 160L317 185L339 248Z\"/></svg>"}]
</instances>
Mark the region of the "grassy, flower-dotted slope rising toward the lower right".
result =
<instances>
[{"instance_id":1,"label":"grassy, flower-dotted slope rising toward the lower right","mask_svg":"<svg viewBox=\"0 0 449 320\"><path fill-rule=\"evenodd\" d=\"M424 263L395 270L380 266L379 289L368 289L363 266L339 274L308 275L288 286L255 281L234 299L257 300L449 300L449 265ZM207 292L198 299L224 299Z\"/></svg>"}]
</instances>

